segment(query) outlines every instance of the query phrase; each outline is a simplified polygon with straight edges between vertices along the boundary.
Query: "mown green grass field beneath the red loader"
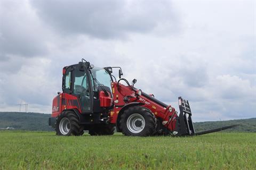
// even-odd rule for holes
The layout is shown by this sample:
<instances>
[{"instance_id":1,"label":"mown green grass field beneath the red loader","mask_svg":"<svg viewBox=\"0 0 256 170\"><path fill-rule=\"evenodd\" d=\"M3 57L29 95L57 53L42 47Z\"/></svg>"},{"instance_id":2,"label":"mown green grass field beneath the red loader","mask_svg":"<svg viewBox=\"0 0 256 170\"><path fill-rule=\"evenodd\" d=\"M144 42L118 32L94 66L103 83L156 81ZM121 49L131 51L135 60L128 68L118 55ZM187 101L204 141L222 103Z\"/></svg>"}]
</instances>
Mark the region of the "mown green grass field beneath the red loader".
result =
<instances>
[{"instance_id":1,"label":"mown green grass field beneath the red loader","mask_svg":"<svg viewBox=\"0 0 256 170\"><path fill-rule=\"evenodd\" d=\"M143 138L0 131L0 169L256 169L256 133Z\"/></svg>"}]
</instances>

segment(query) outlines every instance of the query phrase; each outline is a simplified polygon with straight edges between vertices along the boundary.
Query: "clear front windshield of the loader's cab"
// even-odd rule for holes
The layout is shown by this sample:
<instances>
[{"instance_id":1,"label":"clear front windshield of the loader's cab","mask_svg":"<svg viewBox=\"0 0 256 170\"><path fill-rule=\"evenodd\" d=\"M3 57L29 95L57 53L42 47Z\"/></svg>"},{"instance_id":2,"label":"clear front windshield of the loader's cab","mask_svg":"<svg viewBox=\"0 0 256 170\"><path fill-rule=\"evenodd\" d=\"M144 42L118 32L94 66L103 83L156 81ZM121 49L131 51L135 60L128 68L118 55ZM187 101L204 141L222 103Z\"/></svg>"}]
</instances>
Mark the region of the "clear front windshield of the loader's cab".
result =
<instances>
[{"instance_id":1,"label":"clear front windshield of the loader's cab","mask_svg":"<svg viewBox=\"0 0 256 170\"><path fill-rule=\"evenodd\" d=\"M99 67L93 67L91 69L92 77L94 79L97 79L100 84L103 84L104 86L107 86L111 89L111 78L108 72L105 69L99 68ZM98 91L98 84L94 81L92 81L93 85L93 91Z\"/></svg>"}]
</instances>

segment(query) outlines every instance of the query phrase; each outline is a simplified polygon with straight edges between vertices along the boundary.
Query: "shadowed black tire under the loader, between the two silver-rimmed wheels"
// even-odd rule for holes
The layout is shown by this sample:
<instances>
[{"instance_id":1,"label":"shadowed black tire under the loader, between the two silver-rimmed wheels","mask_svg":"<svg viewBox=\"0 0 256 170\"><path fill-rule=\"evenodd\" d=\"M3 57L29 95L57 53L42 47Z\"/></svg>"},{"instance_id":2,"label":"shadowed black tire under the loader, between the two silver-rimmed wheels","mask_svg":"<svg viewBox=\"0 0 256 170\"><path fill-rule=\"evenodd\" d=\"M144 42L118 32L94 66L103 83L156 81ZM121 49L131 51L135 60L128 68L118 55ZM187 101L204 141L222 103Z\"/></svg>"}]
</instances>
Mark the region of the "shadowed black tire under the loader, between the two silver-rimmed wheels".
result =
<instances>
[{"instance_id":1,"label":"shadowed black tire under the loader, between the two silver-rimmed wheels","mask_svg":"<svg viewBox=\"0 0 256 170\"><path fill-rule=\"evenodd\" d=\"M99 125L94 126L89 130L90 135L113 135L115 133L115 126L113 125Z\"/></svg>"}]
</instances>

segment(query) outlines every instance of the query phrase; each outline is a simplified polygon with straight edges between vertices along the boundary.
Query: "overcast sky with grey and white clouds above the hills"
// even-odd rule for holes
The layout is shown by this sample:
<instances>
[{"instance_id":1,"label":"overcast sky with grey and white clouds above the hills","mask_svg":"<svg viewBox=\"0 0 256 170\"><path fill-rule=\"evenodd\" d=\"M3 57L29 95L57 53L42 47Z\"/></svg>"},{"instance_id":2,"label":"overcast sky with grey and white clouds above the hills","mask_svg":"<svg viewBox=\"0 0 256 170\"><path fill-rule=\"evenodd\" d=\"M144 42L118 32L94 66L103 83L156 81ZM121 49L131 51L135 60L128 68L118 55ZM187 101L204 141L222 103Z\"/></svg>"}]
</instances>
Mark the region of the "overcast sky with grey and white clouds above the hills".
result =
<instances>
[{"instance_id":1,"label":"overcast sky with grey and white clouds above the hills","mask_svg":"<svg viewBox=\"0 0 256 170\"><path fill-rule=\"evenodd\" d=\"M194 121L256 117L255 1L1 1L0 22L0 111L51 113L83 57Z\"/></svg>"}]
</instances>

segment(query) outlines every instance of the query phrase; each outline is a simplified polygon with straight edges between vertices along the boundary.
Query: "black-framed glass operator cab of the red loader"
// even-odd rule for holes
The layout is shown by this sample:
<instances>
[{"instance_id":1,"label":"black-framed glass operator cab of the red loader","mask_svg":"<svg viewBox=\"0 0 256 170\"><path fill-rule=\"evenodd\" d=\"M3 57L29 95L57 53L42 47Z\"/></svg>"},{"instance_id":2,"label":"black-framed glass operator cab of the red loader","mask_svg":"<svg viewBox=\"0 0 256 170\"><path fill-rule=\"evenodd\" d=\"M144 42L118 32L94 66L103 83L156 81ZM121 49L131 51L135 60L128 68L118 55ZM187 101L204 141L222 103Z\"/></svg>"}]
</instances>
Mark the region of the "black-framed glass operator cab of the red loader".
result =
<instances>
[{"instance_id":1,"label":"black-framed glass operator cab of the red loader","mask_svg":"<svg viewBox=\"0 0 256 170\"><path fill-rule=\"evenodd\" d=\"M83 114L101 113L104 108L113 107L110 74L89 62L63 68L62 90L77 97Z\"/></svg>"}]
</instances>

